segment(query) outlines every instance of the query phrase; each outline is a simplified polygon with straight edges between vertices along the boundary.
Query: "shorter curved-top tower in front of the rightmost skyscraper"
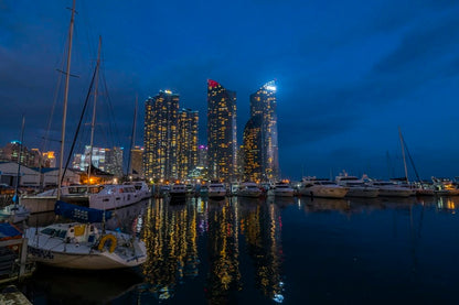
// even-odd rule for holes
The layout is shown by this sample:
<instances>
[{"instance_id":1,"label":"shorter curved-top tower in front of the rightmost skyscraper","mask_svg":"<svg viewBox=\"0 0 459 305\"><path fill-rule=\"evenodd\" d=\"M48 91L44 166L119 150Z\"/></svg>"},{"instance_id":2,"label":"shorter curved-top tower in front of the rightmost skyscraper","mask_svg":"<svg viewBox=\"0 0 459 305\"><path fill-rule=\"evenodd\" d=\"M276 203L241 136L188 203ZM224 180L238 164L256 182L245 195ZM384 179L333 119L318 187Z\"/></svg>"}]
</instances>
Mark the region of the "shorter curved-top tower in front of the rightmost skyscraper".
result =
<instances>
[{"instance_id":1,"label":"shorter curved-top tower in front of the rightmost skyscraper","mask_svg":"<svg viewBox=\"0 0 459 305\"><path fill-rule=\"evenodd\" d=\"M244 128L244 179L260 182L263 178L261 116L248 120Z\"/></svg>"}]
</instances>

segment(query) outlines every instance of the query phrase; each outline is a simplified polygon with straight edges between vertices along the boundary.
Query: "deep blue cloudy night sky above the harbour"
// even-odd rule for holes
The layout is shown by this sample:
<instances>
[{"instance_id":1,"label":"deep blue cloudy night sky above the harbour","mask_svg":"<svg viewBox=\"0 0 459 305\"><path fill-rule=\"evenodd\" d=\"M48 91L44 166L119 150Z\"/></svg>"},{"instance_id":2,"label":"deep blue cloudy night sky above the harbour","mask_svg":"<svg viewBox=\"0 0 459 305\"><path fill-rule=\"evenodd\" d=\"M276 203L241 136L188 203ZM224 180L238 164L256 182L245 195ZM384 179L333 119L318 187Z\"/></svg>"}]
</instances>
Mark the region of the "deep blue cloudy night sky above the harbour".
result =
<instances>
[{"instance_id":1,"label":"deep blue cloudy night sky above the harbour","mask_svg":"<svg viewBox=\"0 0 459 305\"><path fill-rule=\"evenodd\" d=\"M43 149L55 95L49 138L60 139L67 7L0 0L0 146L19 139L24 115L24 144ZM200 111L205 143L206 79L237 92L242 143L249 95L277 79L284 177L403 176L398 127L421 177L459 176L457 0L78 0L76 10L68 141L102 35L95 145L129 148L136 95L142 144L143 101L160 89Z\"/></svg>"}]
</instances>

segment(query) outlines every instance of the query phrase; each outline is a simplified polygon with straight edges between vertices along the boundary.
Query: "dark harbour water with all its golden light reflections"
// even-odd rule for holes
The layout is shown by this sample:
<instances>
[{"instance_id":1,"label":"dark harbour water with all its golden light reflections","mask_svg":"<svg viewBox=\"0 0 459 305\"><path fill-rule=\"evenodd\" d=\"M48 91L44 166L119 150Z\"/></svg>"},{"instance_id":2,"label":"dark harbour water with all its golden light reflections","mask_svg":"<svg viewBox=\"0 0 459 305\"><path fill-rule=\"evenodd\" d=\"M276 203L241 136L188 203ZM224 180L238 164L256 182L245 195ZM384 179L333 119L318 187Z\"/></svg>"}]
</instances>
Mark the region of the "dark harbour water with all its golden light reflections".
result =
<instances>
[{"instance_id":1,"label":"dark harbour water with all its golden light reflections","mask_svg":"<svg viewBox=\"0 0 459 305\"><path fill-rule=\"evenodd\" d=\"M20 288L34 304L459 304L457 207L459 197L152 199L110 224L143 237L142 269L39 266Z\"/></svg>"}]
</instances>

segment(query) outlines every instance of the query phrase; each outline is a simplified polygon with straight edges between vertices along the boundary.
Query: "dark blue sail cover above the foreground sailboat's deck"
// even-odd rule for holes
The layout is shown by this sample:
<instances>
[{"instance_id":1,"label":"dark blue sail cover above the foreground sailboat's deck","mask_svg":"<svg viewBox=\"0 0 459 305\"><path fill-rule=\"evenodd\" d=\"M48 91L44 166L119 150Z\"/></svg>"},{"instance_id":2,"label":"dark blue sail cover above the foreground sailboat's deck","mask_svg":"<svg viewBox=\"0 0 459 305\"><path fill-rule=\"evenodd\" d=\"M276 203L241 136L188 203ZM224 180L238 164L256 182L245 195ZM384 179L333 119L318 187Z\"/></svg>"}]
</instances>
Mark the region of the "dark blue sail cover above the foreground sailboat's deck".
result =
<instances>
[{"instance_id":1,"label":"dark blue sail cover above the foreground sailboat's deck","mask_svg":"<svg viewBox=\"0 0 459 305\"><path fill-rule=\"evenodd\" d=\"M104 215L105 220L111 218L111 211L76 206L62 200L57 200L54 205L54 213L82 222L103 222Z\"/></svg>"}]
</instances>

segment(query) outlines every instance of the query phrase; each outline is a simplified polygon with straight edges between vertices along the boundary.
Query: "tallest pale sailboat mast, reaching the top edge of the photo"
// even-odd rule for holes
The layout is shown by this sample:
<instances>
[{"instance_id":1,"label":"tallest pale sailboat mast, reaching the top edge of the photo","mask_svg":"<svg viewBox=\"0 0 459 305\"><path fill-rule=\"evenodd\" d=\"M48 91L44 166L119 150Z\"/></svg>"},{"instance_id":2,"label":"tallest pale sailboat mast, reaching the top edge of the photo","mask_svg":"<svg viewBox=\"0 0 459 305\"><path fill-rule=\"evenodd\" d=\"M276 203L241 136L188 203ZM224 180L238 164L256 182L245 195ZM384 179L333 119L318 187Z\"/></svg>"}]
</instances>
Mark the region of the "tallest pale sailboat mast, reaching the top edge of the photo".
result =
<instances>
[{"instance_id":1,"label":"tallest pale sailboat mast, reaching the top edge of the photo","mask_svg":"<svg viewBox=\"0 0 459 305\"><path fill-rule=\"evenodd\" d=\"M68 50L67 50L67 66L65 70L65 91L64 91L64 109L62 115L62 135L61 135L61 154L58 163L58 182L57 182L57 200L61 199L61 186L62 186L62 165L64 163L64 143L65 143L65 123L67 121L67 104L68 104L68 83L71 78L71 61L72 61L72 39L73 39L73 24L75 21L75 2L73 0L71 25L68 29Z\"/></svg>"}]
</instances>

